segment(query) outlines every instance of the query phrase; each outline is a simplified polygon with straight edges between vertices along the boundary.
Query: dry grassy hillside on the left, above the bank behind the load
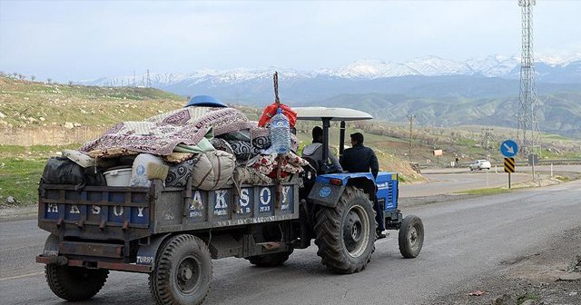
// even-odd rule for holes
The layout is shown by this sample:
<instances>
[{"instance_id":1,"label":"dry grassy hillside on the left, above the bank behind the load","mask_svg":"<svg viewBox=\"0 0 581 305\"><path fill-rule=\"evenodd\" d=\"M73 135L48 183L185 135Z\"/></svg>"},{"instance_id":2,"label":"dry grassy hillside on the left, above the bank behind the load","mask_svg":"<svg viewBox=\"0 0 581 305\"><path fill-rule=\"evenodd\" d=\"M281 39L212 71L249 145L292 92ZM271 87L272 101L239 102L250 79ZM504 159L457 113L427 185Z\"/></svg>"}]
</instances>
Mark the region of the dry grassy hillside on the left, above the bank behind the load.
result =
<instances>
[{"instance_id":1,"label":"dry grassy hillside on the left, above the bank behind the load","mask_svg":"<svg viewBox=\"0 0 581 305\"><path fill-rule=\"evenodd\" d=\"M108 126L182 107L186 99L153 88L44 84L0 77L0 127L76 123Z\"/></svg>"}]
</instances>

